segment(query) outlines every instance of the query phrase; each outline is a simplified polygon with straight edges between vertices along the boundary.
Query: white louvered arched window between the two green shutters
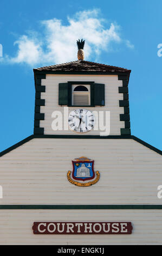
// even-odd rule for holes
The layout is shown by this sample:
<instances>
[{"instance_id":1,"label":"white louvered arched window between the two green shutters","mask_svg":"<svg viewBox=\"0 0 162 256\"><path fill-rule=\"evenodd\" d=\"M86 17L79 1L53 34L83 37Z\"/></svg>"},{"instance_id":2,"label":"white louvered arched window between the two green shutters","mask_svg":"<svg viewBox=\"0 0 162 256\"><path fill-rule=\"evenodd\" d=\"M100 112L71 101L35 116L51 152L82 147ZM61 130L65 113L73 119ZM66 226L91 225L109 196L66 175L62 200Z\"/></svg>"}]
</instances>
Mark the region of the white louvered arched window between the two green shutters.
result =
<instances>
[{"instance_id":1,"label":"white louvered arched window between the two green shutters","mask_svg":"<svg viewBox=\"0 0 162 256\"><path fill-rule=\"evenodd\" d=\"M72 105L89 106L90 105L90 84L73 84L72 86Z\"/></svg>"}]
</instances>

